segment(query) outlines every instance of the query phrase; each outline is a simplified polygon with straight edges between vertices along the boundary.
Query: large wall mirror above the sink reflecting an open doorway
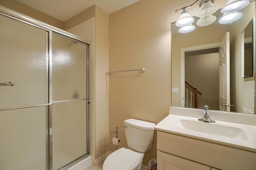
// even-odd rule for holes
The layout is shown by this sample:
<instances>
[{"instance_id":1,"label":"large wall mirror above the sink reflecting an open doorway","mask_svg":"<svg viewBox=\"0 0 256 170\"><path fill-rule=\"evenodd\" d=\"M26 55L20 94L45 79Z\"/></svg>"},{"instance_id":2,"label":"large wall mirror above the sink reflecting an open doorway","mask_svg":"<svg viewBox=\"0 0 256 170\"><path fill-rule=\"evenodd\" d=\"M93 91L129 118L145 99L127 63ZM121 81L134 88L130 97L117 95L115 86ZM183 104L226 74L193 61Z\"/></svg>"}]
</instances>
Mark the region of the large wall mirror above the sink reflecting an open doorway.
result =
<instances>
[{"instance_id":1,"label":"large wall mirror above the sink reflecting an open doorway","mask_svg":"<svg viewBox=\"0 0 256 170\"><path fill-rule=\"evenodd\" d=\"M194 17L192 24L196 29L189 33L179 33L179 27L172 23L172 106L202 108L207 104L212 110L255 113L255 73L248 78L241 78L241 70L246 68L241 64L241 33L246 30L248 23L252 22L254 26L255 1L239 12L243 15L238 21L220 24L218 20L223 14L218 10L213 14L216 21L204 27L197 26L196 22L200 18ZM229 41L229 50L222 41L224 37ZM219 59L223 54L229 55L227 63L230 66L226 66L230 68L227 70L230 72L228 76L220 74ZM225 72L223 69L221 71ZM229 87L225 89L222 84ZM229 95L229 101L221 103L220 96L228 98L226 95Z\"/></svg>"}]
</instances>

